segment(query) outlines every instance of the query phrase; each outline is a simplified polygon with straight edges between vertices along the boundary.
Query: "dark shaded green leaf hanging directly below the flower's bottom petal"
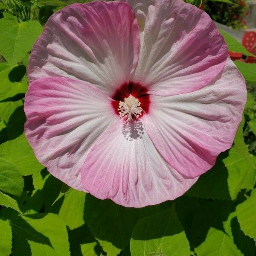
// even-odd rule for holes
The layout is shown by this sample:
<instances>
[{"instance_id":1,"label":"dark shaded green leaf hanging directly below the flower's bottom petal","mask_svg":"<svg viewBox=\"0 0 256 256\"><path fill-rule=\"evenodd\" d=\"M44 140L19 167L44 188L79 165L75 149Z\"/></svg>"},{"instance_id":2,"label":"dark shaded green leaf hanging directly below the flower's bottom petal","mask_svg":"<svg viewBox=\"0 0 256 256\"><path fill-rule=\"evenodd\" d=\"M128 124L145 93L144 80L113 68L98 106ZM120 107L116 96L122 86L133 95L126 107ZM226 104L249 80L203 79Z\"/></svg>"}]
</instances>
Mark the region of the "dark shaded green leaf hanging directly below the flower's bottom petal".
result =
<instances>
[{"instance_id":1,"label":"dark shaded green leaf hanging directly below the flower's bottom petal","mask_svg":"<svg viewBox=\"0 0 256 256\"><path fill-rule=\"evenodd\" d=\"M99 200L87 194L84 218L108 256L116 256L127 247L137 222L159 212L159 206L125 208L111 200Z\"/></svg>"}]
</instances>

